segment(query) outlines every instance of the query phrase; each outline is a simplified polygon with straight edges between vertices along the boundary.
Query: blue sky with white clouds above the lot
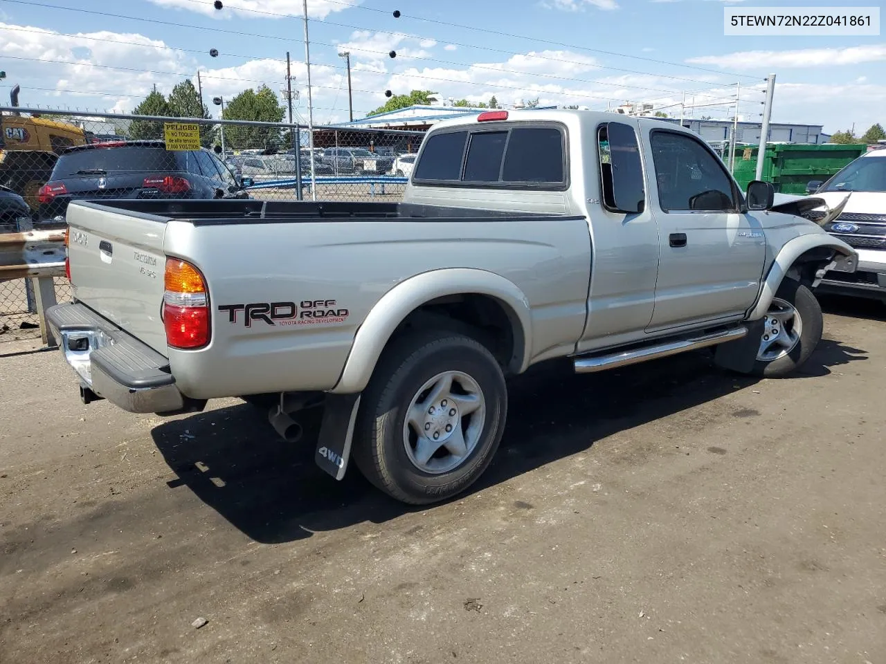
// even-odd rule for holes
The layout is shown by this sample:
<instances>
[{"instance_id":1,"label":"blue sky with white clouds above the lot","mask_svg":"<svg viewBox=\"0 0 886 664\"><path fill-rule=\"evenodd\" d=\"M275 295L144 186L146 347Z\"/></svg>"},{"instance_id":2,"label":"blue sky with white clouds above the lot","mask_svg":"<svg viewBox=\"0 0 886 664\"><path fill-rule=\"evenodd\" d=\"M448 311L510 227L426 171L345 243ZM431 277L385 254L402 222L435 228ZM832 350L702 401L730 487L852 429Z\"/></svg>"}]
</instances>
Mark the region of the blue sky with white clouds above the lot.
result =
<instances>
[{"instance_id":1,"label":"blue sky with white clouds above the lot","mask_svg":"<svg viewBox=\"0 0 886 664\"><path fill-rule=\"evenodd\" d=\"M881 0L308 0L314 123L354 119L385 90L606 110L651 103L679 116L758 121L768 73L773 121L826 133L886 124L881 36L724 36L727 6L879 6ZM302 0L0 0L0 100L131 111L197 72L204 97L267 84L307 121ZM393 12L400 12L394 18ZM218 56L210 56L210 50ZM389 56L390 51L396 57ZM283 96L281 95L281 101ZM218 114L213 107L211 112Z\"/></svg>"}]
</instances>

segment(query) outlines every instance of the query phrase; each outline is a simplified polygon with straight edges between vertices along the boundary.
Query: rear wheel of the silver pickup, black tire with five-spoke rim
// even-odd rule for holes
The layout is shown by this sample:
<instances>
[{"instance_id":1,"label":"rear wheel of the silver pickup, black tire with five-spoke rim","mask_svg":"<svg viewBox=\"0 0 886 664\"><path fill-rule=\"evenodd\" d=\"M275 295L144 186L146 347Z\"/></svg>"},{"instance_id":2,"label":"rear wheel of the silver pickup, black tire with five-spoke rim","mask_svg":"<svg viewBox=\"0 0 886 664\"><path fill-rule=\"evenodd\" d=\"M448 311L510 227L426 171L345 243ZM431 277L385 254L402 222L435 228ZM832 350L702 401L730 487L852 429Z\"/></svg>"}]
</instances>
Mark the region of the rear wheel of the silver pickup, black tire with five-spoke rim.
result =
<instances>
[{"instance_id":1,"label":"rear wheel of the silver pickup, black tire with five-spoke rim","mask_svg":"<svg viewBox=\"0 0 886 664\"><path fill-rule=\"evenodd\" d=\"M447 376L452 378L449 390ZM467 489L489 466L507 412L504 376L485 346L448 331L403 336L382 354L363 392L354 462L370 483L401 502L446 500ZM440 439L419 436L423 428ZM456 438L459 432L461 439ZM456 448L462 452L450 452ZM431 449L436 452L428 457Z\"/></svg>"}]
</instances>

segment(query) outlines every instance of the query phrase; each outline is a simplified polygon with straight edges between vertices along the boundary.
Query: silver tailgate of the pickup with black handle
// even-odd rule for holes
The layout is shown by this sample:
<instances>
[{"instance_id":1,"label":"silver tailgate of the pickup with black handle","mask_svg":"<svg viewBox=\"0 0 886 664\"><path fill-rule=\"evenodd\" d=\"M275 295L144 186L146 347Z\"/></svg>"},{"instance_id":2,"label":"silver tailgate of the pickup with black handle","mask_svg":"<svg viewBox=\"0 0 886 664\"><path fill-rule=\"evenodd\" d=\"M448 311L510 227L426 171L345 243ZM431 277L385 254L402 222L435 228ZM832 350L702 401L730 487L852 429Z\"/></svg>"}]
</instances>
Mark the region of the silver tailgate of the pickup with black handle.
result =
<instances>
[{"instance_id":1,"label":"silver tailgate of the pickup with black handle","mask_svg":"<svg viewBox=\"0 0 886 664\"><path fill-rule=\"evenodd\" d=\"M164 220L74 201L67 223L76 299L166 355Z\"/></svg>"}]
</instances>

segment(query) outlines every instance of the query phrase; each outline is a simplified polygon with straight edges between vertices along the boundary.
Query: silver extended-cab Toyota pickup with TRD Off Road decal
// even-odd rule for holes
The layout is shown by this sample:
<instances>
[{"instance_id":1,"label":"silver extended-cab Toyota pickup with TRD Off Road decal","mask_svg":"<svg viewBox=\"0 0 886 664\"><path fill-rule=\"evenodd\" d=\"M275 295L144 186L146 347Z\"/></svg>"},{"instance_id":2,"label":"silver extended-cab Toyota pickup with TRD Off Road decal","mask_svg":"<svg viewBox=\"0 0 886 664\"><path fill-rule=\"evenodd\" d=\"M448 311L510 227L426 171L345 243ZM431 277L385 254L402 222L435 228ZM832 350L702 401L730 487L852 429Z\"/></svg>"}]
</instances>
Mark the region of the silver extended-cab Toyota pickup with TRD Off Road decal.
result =
<instances>
[{"instance_id":1,"label":"silver extended-cab Toyota pickup with TRD Off Road decal","mask_svg":"<svg viewBox=\"0 0 886 664\"><path fill-rule=\"evenodd\" d=\"M74 202L74 303L48 320L84 401L196 412L241 397L315 459L354 459L394 498L473 483L506 378L710 347L783 376L818 344L810 288L856 253L804 218L820 200L747 200L696 135L602 112L484 112L426 136L402 204ZM839 213L839 205L828 216ZM821 220L820 220L821 221ZM827 221L824 220L824 221Z\"/></svg>"}]
</instances>

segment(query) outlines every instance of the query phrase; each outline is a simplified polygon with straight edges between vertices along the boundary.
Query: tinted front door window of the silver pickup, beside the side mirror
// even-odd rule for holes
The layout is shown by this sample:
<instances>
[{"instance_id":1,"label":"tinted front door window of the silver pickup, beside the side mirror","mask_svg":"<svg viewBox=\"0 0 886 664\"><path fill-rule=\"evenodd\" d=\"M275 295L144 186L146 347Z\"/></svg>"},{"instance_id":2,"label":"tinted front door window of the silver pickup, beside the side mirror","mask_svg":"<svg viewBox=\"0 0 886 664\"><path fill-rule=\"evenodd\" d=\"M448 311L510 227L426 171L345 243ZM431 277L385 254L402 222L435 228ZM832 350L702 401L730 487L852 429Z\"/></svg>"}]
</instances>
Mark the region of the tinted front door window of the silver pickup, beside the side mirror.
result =
<instances>
[{"instance_id":1,"label":"tinted front door window of the silver pickup, beside the side mirror","mask_svg":"<svg viewBox=\"0 0 886 664\"><path fill-rule=\"evenodd\" d=\"M738 210L732 178L700 141L685 134L653 131L650 145L662 212Z\"/></svg>"}]
</instances>

